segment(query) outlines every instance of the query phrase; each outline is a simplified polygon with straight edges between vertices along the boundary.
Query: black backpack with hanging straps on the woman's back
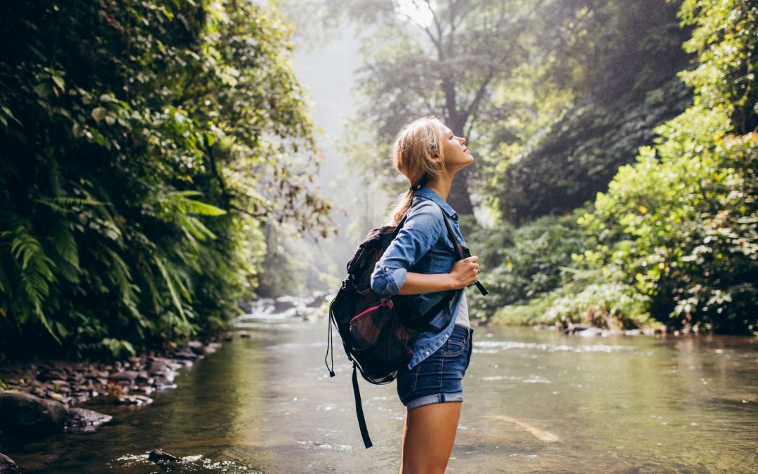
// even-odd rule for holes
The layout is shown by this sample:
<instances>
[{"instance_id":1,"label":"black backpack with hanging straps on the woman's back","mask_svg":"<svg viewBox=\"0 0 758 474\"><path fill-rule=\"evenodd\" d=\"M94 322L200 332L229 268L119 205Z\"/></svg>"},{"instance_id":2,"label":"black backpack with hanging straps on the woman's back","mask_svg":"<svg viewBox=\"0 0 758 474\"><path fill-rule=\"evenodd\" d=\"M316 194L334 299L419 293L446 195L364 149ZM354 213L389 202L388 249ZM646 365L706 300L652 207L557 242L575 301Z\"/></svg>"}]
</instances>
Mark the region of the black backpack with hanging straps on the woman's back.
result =
<instances>
[{"instance_id":1,"label":"black backpack with hanging straps on the woman's back","mask_svg":"<svg viewBox=\"0 0 758 474\"><path fill-rule=\"evenodd\" d=\"M456 290L444 292L431 309L423 315L412 317L407 309L406 295L382 297L371 290L371 274L376 262L381 259L384 251L402 229L408 213L415 204L417 203L411 206L397 225L374 228L366 234L347 262L347 278L342 281L340 290L329 305L329 332L324 363L329 376L334 377L334 325L342 339L347 358L352 362L352 390L356 400L356 416L363 443L367 448L372 444L363 415L358 372L374 385L388 384L395 380L409 363L413 353L412 346L418 334L428 328L429 322L456 294ZM456 260L470 256L466 255L468 249L458 242L444 211L442 215L448 236L453 242ZM487 290L476 283L482 294L487 294ZM330 351L331 366L327 362Z\"/></svg>"}]
</instances>

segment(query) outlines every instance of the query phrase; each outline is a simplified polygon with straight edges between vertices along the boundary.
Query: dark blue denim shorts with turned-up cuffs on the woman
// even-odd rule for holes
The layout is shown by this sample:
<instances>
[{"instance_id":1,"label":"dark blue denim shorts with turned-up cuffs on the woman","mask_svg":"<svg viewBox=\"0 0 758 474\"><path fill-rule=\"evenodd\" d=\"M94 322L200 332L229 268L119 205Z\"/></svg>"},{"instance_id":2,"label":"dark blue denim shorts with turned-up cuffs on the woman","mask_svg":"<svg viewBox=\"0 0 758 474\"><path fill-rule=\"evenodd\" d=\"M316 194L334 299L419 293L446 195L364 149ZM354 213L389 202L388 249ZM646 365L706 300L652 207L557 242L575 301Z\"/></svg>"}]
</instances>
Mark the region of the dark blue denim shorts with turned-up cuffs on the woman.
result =
<instances>
[{"instance_id":1,"label":"dark blue denim shorts with turned-up cuffs on the woman","mask_svg":"<svg viewBox=\"0 0 758 474\"><path fill-rule=\"evenodd\" d=\"M463 375L471 362L474 330L454 326L445 344L397 377L397 394L408 410L431 403L462 402Z\"/></svg>"}]
</instances>

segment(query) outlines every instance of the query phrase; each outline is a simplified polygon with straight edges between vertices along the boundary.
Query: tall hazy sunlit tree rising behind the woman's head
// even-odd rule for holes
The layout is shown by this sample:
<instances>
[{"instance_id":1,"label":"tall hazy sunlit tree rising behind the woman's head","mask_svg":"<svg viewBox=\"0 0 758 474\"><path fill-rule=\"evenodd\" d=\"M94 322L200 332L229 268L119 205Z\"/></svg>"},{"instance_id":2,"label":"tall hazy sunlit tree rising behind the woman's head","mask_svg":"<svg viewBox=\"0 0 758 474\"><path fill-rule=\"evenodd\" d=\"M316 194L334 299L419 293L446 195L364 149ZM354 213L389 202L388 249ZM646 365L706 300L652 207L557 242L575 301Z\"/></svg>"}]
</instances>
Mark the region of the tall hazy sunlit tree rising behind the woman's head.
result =
<instances>
[{"instance_id":1,"label":"tall hazy sunlit tree rising behind the woman's head","mask_svg":"<svg viewBox=\"0 0 758 474\"><path fill-rule=\"evenodd\" d=\"M368 175L387 176L387 144L414 117L437 115L456 134L478 140L498 120L493 86L528 58L525 34L543 2L299 2L321 8L327 25L345 17L368 27L359 70L362 107L353 146ZM311 10L312 11L312 10ZM381 145L377 146L379 143ZM472 214L468 170L453 181L448 202Z\"/></svg>"}]
</instances>

